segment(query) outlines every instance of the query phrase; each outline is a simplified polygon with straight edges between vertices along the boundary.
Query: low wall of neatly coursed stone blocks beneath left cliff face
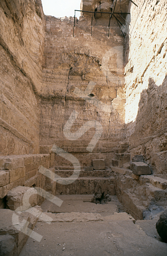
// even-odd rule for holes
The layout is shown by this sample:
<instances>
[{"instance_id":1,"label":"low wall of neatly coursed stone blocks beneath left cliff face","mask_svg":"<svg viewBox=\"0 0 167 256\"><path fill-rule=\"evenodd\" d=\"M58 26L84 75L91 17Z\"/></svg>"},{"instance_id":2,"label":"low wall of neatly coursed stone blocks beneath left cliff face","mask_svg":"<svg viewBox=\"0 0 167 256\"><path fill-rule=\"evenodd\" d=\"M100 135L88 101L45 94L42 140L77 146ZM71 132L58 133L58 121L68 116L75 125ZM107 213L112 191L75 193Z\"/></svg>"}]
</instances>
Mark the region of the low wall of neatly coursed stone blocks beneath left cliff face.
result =
<instances>
[{"instance_id":1,"label":"low wall of neatly coursed stone blocks beneath left cliff face","mask_svg":"<svg viewBox=\"0 0 167 256\"><path fill-rule=\"evenodd\" d=\"M0 198L17 186L40 187L46 189L46 177L39 172L53 165L52 154L24 154L0 156ZM41 201L41 200L40 200Z\"/></svg>"}]
</instances>

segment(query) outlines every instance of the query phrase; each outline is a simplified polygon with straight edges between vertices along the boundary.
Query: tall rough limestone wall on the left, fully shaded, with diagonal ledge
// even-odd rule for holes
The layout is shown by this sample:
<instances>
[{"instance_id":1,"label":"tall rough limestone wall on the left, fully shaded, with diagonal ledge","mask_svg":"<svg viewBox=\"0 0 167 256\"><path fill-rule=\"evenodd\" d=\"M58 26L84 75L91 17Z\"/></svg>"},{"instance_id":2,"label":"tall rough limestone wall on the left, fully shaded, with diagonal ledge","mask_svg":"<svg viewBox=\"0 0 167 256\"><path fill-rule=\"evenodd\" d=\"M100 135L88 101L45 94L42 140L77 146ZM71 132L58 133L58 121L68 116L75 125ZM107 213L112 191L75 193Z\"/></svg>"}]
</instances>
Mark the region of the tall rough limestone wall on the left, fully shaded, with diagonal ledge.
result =
<instances>
[{"instance_id":1,"label":"tall rough limestone wall on the left, fully shaded, with diagonal ledge","mask_svg":"<svg viewBox=\"0 0 167 256\"><path fill-rule=\"evenodd\" d=\"M0 155L39 152L40 0L0 1Z\"/></svg>"}]
</instances>

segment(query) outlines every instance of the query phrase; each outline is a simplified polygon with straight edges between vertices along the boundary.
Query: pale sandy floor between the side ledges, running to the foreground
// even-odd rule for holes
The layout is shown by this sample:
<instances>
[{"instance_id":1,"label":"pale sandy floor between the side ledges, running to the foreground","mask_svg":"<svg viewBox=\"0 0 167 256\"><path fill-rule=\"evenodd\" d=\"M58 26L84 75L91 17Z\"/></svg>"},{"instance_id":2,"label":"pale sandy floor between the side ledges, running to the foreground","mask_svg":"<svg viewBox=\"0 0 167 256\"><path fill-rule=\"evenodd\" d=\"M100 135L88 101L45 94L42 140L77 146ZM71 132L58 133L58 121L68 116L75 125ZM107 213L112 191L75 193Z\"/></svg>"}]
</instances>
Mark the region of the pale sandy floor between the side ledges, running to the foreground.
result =
<instances>
[{"instance_id":1,"label":"pale sandy floor between the side ledges, running to the foreground","mask_svg":"<svg viewBox=\"0 0 167 256\"><path fill-rule=\"evenodd\" d=\"M20 256L167 256L167 244L155 228L158 216L135 221L119 212L115 196L108 204L90 203L90 196L62 195L60 199L61 207L49 201L41 205L52 222L37 222L34 231L42 239L29 238Z\"/></svg>"}]
</instances>

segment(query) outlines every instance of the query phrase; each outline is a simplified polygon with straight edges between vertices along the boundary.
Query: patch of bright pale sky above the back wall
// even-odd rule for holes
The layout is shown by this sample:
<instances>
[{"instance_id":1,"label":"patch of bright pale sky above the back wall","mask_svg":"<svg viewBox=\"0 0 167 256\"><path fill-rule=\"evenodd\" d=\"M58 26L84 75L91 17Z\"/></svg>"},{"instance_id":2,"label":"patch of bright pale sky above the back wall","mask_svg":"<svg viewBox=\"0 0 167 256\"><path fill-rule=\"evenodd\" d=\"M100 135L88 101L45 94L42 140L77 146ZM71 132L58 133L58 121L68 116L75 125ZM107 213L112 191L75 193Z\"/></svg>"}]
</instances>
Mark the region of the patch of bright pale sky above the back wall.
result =
<instances>
[{"instance_id":1,"label":"patch of bright pale sky above the back wall","mask_svg":"<svg viewBox=\"0 0 167 256\"><path fill-rule=\"evenodd\" d=\"M74 17L74 10L80 10L81 0L42 0L45 15L60 17ZM76 12L80 16L80 12Z\"/></svg>"}]
</instances>

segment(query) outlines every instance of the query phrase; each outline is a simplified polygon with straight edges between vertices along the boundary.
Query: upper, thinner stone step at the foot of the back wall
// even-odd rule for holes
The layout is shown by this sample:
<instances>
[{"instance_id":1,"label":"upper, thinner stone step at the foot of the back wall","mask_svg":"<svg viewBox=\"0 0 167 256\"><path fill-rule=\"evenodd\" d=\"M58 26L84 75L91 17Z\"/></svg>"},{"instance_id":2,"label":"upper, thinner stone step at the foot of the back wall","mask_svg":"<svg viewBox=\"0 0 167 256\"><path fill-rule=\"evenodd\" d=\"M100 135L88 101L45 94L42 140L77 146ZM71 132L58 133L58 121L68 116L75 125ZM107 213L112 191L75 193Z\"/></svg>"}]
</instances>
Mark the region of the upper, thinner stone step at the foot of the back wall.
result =
<instances>
[{"instance_id":1,"label":"upper, thinner stone step at the foot of the back wall","mask_svg":"<svg viewBox=\"0 0 167 256\"><path fill-rule=\"evenodd\" d=\"M70 177L73 170L55 170L55 174L61 177ZM111 170L81 170L79 177L110 177Z\"/></svg>"}]
</instances>

